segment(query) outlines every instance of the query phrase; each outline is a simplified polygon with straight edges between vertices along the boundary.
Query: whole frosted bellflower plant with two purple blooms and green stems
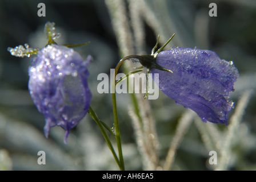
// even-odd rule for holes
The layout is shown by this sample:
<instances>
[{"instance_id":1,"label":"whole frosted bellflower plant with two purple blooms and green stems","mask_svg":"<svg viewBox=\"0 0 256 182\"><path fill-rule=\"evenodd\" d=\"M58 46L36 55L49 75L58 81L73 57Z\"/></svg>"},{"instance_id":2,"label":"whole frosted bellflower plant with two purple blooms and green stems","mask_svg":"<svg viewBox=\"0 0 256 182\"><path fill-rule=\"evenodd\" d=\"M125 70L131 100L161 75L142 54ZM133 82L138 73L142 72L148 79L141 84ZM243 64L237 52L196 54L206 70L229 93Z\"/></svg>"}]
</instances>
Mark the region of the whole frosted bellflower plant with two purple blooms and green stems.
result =
<instances>
[{"instance_id":1,"label":"whole frosted bellflower plant with two purple blooms and green stems","mask_svg":"<svg viewBox=\"0 0 256 182\"><path fill-rule=\"evenodd\" d=\"M65 129L66 143L70 129L77 126L88 112L101 129L119 168L124 170L115 92L112 94L115 130L113 133L98 119L90 107L91 93L87 85L89 76L87 66L92 57L88 56L83 61L77 52L69 48L70 45L57 45L54 39L60 34L55 34L54 30L54 23L47 22L45 33L49 41L45 48L32 49L27 44L25 48L23 46L8 48L14 56L37 54L37 57L31 60L29 68L29 90L34 104L45 116L45 137L48 137L50 127L61 126ZM149 90L147 84L149 73L158 73L159 88L177 104L194 110L204 122L227 125L227 113L233 107L233 102L228 101L229 92L234 91L234 82L239 77L237 68L234 67L233 62L221 60L215 52L209 50L175 47L169 51L162 51L173 36L154 52L158 46L158 37L151 55L130 55L119 61L115 68L112 89L115 89L117 82L122 80L121 78L115 82L120 65L125 60L133 60L141 63L142 67L139 69L147 69L144 99ZM80 45L83 44L75 46ZM117 139L119 159L103 126Z\"/></svg>"}]
</instances>

